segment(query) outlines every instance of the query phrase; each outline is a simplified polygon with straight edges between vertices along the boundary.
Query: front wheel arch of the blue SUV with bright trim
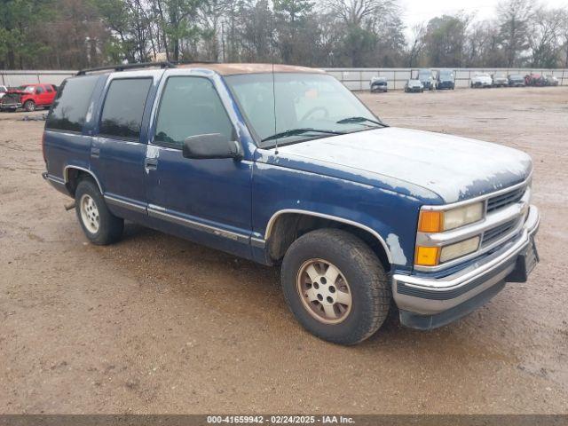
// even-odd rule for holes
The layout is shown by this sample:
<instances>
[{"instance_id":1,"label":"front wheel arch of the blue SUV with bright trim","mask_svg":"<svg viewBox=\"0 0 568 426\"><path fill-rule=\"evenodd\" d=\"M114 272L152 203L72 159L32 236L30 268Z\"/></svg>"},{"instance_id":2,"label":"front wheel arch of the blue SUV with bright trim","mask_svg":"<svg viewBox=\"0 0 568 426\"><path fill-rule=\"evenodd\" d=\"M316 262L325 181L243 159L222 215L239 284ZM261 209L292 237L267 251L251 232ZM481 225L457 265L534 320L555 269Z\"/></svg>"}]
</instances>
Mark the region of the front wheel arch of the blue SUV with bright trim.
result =
<instances>
[{"instance_id":1,"label":"front wheel arch of the blue SUV with bright trim","mask_svg":"<svg viewBox=\"0 0 568 426\"><path fill-rule=\"evenodd\" d=\"M380 233L354 220L311 210L281 209L275 212L264 232L267 254L272 260L278 261L299 236L326 227L346 230L367 242L381 260L385 270L390 271L393 259L389 246Z\"/></svg>"}]
</instances>

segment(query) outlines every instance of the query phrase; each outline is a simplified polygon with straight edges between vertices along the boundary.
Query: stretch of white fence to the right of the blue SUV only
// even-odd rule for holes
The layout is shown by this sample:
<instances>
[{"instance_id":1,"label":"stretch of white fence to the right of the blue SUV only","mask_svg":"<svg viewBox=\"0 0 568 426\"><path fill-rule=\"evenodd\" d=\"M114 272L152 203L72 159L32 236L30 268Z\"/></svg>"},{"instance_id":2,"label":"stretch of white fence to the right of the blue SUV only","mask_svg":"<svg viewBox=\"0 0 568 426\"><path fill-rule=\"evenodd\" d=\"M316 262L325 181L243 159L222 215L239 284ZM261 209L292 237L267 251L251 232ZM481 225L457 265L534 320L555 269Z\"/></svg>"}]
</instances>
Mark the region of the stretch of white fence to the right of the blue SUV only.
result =
<instances>
[{"instance_id":1,"label":"stretch of white fence to the right of the blue SUV only","mask_svg":"<svg viewBox=\"0 0 568 426\"><path fill-rule=\"evenodd\" d=\"M327 73L333 75L351 91L368 91L372 77L380 76L387 79L389 90L404 89L406 80L412 74L414 77L417 68L324 68ZM432 68L437 71L439 68ZM544 68L450 68L454 69L455 87L469 87L471 77L476 73L505 73L527 75L530 73L542 75L554 75L558 84L568 86L568 69L544 69Z\"/></svg>"}]
</instances>

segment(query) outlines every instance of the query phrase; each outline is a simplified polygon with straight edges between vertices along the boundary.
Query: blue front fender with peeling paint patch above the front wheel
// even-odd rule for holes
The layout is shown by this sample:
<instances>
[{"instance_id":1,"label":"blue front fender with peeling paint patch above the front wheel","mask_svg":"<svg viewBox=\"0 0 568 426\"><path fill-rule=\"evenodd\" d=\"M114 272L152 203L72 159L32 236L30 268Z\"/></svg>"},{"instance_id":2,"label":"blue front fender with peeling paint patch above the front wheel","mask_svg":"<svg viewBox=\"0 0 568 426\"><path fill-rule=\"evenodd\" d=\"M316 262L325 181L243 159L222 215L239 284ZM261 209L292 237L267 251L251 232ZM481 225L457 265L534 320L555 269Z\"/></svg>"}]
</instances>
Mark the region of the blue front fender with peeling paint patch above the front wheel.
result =
<instances>
[{"instance_id":1,"label":"blue front fender with peeling paint patch above the front wheel","mask_svg":"<svg viewBox=\"0 0 568 426\"><path fill-rule=\"evenodd\" d=\"M265 240L281 214L335 219L373 233L397 269L411 269L421 202L373 185L256 162L253 238Z\"/></svg>"}]
</instances>

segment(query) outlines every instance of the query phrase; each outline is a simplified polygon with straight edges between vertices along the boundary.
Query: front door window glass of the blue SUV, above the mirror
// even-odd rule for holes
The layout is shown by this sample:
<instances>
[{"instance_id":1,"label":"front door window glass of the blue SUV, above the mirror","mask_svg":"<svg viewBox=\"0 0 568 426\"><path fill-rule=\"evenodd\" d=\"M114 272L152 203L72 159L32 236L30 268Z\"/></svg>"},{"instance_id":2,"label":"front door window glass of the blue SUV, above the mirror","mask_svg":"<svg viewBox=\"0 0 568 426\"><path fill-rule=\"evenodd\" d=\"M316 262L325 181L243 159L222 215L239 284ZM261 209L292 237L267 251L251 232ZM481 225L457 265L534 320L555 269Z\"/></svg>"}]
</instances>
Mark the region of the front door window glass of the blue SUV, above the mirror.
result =
<instances>
[{"instance_id":1,"label":"front door window glass of the blue SUV, above the mirror","mask_svg":"<svg viewBox=\"0 0 568 426\"><path fill-rule=\"evenodd\" d=\"M185 138L220 133L233 138L233 125L213 83L204 77L168 78L162 92L154 143L183 146Z\"/></svg>"}]
</instances>

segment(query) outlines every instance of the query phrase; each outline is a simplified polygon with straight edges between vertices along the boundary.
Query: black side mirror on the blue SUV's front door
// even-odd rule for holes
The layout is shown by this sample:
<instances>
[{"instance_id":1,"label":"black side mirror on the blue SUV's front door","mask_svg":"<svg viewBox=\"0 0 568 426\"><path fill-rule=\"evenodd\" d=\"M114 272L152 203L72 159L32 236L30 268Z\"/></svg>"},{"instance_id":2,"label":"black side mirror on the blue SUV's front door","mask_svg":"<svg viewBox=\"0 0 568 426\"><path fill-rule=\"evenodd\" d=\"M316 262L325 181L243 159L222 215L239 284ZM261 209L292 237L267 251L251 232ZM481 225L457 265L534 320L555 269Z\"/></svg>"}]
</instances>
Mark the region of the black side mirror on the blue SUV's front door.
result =
<instances>
[{"instance_id":1,"label":"black side mirror on the blue SUV's front door","mask_svg":"<svg viewBox=\"0 0 568 426\"><path fill-rule=\"evenodd\" d=\"M219 133L209 133L185 138L183 154L185 158L196 160L213 158L242 159L241 145L235 140L228 140Z\"/></svg>"}]
</instances>

